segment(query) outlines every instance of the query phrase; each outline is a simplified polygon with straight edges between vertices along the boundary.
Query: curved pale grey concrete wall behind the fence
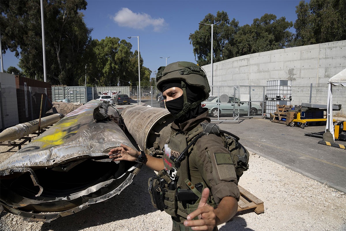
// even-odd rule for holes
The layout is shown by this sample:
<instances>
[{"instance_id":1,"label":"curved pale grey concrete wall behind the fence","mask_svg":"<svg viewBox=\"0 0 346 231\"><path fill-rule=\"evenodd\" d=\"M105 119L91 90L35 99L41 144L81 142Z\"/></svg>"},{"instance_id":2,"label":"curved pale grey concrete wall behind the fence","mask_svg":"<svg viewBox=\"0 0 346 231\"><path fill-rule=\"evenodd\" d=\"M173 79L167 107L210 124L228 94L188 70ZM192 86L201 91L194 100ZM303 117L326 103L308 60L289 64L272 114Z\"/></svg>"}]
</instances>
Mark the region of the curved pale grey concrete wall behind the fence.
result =
<instances>
[{"instance_id":1,"label":"curved pale grey concrete wall behind the fence","mask_svg":"<svg viewBox=\"0 0 346 231\"><path fill-rule=\"evenodd\" d=\"M292 85L327 83L346 68L346 40L249 54L202 66L210 85L267 85L267 80L292 80Z\"/></svg>"}]
</instances>

